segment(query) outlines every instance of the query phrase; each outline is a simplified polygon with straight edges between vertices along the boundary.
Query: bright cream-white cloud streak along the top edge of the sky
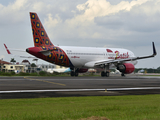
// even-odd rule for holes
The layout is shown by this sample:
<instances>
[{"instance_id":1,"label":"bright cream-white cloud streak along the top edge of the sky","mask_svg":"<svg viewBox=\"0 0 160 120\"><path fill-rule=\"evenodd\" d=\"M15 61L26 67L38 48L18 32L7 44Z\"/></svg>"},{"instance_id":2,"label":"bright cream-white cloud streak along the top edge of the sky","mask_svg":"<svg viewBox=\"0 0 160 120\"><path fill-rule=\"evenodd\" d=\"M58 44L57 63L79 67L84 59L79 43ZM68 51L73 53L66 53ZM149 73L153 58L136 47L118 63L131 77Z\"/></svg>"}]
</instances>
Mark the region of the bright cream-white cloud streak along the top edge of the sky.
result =
<instances>
[{"instance_id":1,"label":"bright cream-white cloud streak along the top edge of the sky","mask_svg":"<svg viewBox=\"0 0 160 120\"><path fill-rule=\"evenodd\" d=\"M148 0L121 1L117 5L111 5L106 0L88 0L86 3L77 6L79 11L84 11L84 14L77 16L77 18L80 18L82 21L93 20L95 17L116 14L122 10L130 11L133 6L141 5L147 1Z\"/></svg>"}]
</instances>

